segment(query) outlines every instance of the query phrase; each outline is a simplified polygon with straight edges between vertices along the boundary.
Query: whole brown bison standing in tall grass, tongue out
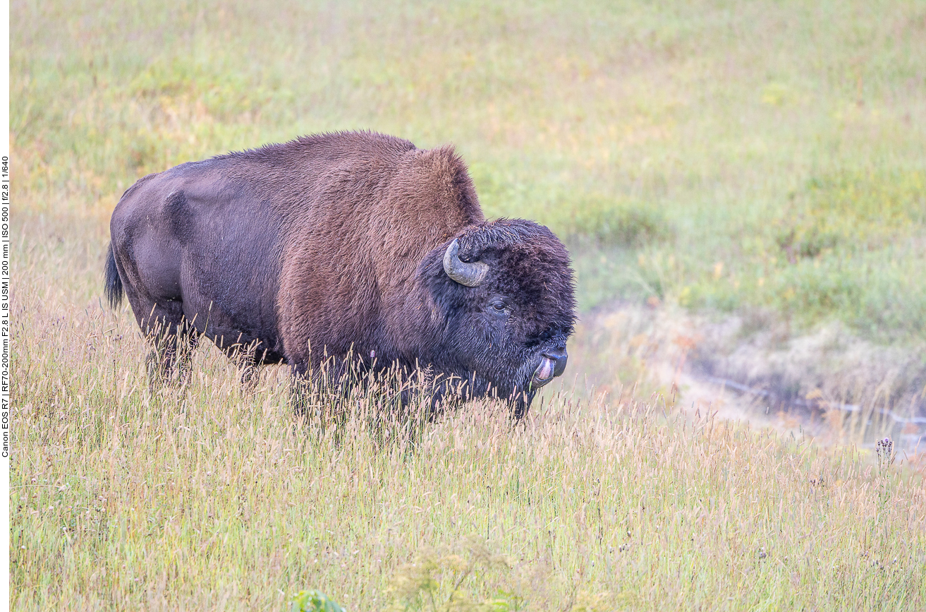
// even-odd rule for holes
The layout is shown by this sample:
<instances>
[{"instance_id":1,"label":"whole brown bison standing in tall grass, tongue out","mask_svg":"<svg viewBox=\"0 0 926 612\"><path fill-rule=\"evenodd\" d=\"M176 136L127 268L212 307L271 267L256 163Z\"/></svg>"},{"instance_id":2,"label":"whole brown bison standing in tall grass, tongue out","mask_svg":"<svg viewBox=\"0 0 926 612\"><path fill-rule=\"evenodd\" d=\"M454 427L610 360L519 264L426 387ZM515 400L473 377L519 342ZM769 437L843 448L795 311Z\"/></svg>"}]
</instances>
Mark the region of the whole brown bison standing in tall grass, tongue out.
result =
<instances>
[{"instance_id":1,"label":"whole brown bison standing in tall grass, tongue out","mask_svg":"<svg viewBox=\"0 0 926 612\"><path fill-rule=\"evenodd\" d=\"M435 404L454 387L522 416L566 367L569 253L543 225L487 222L452 147L351 132L184 163L132 185L110 233L106 296L124 290L155 376L206 336L244 380L422 368Z\"/></svg>"}]
</instances>

